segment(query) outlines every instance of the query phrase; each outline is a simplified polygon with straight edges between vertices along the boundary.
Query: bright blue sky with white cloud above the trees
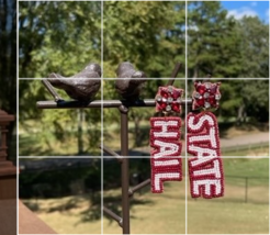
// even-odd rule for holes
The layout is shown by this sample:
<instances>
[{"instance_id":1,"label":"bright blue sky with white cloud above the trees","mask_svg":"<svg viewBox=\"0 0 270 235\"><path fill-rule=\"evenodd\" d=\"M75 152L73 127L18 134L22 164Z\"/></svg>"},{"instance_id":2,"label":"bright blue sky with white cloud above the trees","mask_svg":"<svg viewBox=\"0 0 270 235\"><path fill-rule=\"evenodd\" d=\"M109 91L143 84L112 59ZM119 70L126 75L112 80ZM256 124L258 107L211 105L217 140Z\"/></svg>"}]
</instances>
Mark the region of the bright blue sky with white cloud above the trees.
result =
<instances>
[{"instance_id":1,"label":"bright blue sky with white cloud above the trees","mask_svg":"<svg viewBox=\"0 0 270 235\"><path fill-rule=\"evenodd\" d=\"M221 1L229 15L241 19L244 15L259 16L269 23L269 1Z\"/></svg>"}]
</instances>

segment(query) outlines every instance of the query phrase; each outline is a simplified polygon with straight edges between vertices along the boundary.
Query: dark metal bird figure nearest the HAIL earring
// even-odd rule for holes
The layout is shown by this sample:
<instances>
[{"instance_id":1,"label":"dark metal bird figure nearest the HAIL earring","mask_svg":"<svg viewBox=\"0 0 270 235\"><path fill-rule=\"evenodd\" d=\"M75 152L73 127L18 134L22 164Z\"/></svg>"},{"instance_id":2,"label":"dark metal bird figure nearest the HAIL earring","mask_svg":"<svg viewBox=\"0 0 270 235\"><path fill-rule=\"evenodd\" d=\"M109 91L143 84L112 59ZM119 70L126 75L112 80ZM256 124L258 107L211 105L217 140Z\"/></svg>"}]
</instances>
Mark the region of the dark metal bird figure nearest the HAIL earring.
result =
<instances>
[{"instance_id":1,"label":"dark metal bird figure nearest the HAIL earring","mask_svg":"<svg viewBox=\"0 0 270 235\"><path fill-rule=\"evenodd\" d=\"M138 99L143 83L146 81L146 75L143 71L136 71L128 61L121 63L116 70L117 79L115 89L120 96L126 100Z\"/></svg>"}]
</instances>

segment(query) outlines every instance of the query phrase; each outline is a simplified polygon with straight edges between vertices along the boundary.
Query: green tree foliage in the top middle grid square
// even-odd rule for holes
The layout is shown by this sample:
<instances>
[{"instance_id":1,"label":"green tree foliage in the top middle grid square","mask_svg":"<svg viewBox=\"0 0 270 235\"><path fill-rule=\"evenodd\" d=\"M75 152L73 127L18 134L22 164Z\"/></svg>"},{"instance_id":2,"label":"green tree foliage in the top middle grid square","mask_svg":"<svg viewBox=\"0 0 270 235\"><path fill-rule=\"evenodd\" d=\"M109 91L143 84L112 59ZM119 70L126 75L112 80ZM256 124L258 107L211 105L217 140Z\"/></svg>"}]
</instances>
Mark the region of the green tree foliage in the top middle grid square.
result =
<instances>
[{"instance_id":1,"label":"green tree foliage in the top middle grid square","mask_svg":"<svg viewBox=\"0 0 270 235\"><path fill-rule=\"evenodd\" d=\"M104 77L130 60L148 77L169 77L184 63L184 2L104 2ZM184 77L183 71L179 76Z\"/></svg>"}]
</instances>

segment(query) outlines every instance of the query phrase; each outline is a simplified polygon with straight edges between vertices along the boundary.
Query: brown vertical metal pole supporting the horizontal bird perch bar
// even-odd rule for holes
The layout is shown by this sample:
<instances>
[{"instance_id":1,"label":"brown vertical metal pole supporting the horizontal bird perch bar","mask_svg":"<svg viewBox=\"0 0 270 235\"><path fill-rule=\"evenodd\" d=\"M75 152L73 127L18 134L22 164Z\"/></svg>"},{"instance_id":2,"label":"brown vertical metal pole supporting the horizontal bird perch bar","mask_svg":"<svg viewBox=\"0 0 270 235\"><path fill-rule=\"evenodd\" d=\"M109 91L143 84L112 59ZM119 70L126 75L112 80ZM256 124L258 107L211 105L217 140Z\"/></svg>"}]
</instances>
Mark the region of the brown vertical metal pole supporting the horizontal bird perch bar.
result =
<instances>
[{"instance_id":1,"label":"brown vertical metal pole supporting the horizontal bird perch bar","mask_svg":"<svg viewBox=\"0 0 270 235\"><path fill-rule=\"evenodd\" d=\"M128 108L120 105L121 112L121 155L123 156L121 166L122 177L122 219L123 234L130 234L130 170L128 170Z\"/></svg>"}]
</instances>

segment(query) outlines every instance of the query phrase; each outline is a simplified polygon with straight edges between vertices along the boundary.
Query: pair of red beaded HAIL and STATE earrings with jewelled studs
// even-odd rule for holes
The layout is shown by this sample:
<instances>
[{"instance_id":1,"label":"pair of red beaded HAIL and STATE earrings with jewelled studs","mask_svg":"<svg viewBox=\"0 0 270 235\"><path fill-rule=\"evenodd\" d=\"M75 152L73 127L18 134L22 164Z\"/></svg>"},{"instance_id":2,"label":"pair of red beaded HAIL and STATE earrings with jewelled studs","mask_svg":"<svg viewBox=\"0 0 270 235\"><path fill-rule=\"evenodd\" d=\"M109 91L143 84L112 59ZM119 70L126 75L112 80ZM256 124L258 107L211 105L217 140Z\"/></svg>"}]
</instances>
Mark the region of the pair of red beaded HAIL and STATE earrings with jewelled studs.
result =
<instances>
[{"instance_id":1,"label":"pair of red beaded HAIL and STATE earrings with jewelled studs","mask_svg":"<svg viewBox=\"0 0 270 235\"><path fill-rule=\"evenodd\" d=\"M204 111L189 113L187 124L187 152L191 195L217 198L224 194L224 176L220 149L218 125L210 109L217 109L221 99L220 82L195 82L192 109ZM156 96L156 112L150 119L151 191L160 193L164 181L182 180L180 142L181 103L183 90L172 86L160 87ZM160 116L160 113L164 115Z\"/></svg>"}]
</instances>

